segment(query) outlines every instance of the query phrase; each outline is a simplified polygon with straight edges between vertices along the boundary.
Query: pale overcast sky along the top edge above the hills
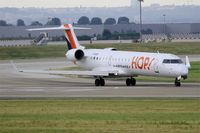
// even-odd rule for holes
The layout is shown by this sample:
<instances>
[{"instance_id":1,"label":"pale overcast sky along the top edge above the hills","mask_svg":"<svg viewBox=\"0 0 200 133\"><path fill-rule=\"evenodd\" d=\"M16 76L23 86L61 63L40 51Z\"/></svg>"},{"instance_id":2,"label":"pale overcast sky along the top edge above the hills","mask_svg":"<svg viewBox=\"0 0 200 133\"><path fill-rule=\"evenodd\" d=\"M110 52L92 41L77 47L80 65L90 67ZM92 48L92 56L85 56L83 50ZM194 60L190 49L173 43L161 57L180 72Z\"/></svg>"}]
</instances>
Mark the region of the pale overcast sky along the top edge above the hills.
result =
<instances>
[{"instance_id":1,"label":"pale overcast sky along the top edge above the hills","mask_svg":"<svg viewBox=\"0 0 200 133\"><path fill-rule=\"evenodd\" d=\"M116 7L130 3L131 0L0 0L0 7ZM200 5L200 0L144 0L144 6L151 4Z\"/></svg>"}]
</instances>

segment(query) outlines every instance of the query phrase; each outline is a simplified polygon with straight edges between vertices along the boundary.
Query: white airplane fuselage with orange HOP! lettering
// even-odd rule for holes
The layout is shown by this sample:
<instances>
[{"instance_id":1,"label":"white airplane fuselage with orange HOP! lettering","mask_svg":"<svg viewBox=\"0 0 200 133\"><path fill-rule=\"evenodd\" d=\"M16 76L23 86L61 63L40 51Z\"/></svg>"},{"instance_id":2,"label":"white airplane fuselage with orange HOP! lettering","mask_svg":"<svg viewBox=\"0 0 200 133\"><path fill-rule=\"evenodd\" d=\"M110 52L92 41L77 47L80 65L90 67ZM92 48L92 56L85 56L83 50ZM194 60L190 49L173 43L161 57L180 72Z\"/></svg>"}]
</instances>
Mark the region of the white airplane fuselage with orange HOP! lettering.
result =
<instances>
[{"instance_id":1,"label":"white airplane fuselage with orange HOP! lettering","mask_svg":"<svg viewBox=\"0 0 200 133\"><path fill-rule=\"evenodd\" d=\"M179 77L188 68L173 54L84 49L85 58L77 65L93 71L118 71L118 76ZM164 61L165 60L165 61Z\"/></svg>"}]
</instances>

